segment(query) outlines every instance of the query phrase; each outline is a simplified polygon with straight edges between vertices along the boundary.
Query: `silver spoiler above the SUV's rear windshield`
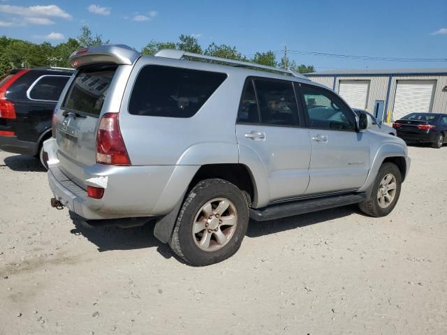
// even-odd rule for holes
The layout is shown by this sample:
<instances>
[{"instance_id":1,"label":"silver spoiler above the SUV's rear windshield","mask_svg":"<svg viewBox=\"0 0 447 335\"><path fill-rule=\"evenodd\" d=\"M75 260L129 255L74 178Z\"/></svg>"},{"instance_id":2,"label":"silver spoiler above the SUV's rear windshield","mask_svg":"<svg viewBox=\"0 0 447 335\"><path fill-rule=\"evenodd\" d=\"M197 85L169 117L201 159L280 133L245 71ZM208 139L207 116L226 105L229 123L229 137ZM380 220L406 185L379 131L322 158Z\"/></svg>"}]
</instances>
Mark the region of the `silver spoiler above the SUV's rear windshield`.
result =
<instances>
[{"instance_id":1,"label":"silver spoiler above the SUV's rear windshield","mask_svg":"<svg viewBox=\"0 0 447 335\"><path fill-rule=\"evenodd\" d=\"M68 61L73 68L98 63L132 65L140 56L140 52L127 45L107 44L76 50L70 55Z\"/></svg>"}]
</instances>

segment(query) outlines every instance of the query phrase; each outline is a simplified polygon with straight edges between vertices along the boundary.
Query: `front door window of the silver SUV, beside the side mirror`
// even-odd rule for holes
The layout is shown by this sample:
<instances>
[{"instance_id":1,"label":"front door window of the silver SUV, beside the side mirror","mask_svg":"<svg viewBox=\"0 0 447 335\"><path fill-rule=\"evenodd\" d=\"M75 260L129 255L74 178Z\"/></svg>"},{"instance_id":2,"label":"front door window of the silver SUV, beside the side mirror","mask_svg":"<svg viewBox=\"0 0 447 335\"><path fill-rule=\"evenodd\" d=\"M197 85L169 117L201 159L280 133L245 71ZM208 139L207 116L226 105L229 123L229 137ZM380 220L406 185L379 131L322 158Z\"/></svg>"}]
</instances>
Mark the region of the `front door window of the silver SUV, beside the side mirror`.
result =
<instances>
[{"instance_id":1,"label":"front door window of the silver SUV, beside the side mirror","mask_svg":"<svg viewBox=\"0 0 447 335\"><path fill-rule=\"evenodd\" d=\"M353 131L355 119L337 96L323 89L302 87L311 128Z\"/></svg>"}]
</instances>

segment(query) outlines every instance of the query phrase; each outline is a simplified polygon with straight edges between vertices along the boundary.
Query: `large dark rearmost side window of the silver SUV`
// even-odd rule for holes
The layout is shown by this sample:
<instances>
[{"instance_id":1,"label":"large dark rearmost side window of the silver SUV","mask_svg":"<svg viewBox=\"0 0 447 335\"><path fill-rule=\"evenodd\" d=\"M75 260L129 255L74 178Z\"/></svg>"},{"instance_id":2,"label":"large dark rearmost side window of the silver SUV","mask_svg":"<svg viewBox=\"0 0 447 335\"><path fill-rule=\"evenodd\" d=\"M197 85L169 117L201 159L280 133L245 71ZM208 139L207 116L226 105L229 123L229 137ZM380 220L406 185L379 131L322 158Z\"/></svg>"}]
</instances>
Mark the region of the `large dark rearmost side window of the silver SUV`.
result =
<instances>
[{"instance_id":1,"label":"large dark rearmost side window of the silver SUV","mask_svg":"<svg viewBox=\"0 0 447 335\"><path fill-rule=\"evenodd\" d=\"M227 75L149 65L133 86L129 113L150 117L192 117Z\"/></svg>"}]
</instances>

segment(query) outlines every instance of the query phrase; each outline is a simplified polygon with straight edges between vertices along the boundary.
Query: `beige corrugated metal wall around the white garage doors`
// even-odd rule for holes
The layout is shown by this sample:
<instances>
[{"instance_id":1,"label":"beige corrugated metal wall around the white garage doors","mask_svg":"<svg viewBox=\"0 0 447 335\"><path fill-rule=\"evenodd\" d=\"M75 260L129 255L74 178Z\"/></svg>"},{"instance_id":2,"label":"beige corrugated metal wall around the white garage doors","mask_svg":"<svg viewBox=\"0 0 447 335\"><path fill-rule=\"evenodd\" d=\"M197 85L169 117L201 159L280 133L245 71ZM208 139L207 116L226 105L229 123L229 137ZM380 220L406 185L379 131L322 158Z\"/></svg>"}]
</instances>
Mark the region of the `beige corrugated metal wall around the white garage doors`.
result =
<instances>
[{"instance_id":1,"label":"beige corrugated metal wall around the white garage doors","mask_svg":"<svg viewBox=\"0 0 447 335\"><path fill-rule=\"evenodd\" d=\"M318 82L319 84L323 84L330 89L332 89L334 84L335 76L328 77L312 77L309 76L309 79ZM378 75L378 76L346 76L346 75L337 75L337 80L335 82L335 91L339 91L339 83L340 80L369 80L369 94L368 94L368 103L367 110L372 112L374 110L374 101L385 101L386 105L386 93L388 91L388 75ZM437 113L446 113L447 114L447 92L443 92L442 89L447 86L447 75L399 75L391 77L391 86L390 86L390 94L388 100L387 110L383 111L384 119L386 120L386 115L388 112L393 112L395 95L396 95L396 86L397 80L436 80L436 88L434 91L433 103L432 103L432 112ZM392 118L393 119L393 118Z\"/></svg>"}]
</instances>

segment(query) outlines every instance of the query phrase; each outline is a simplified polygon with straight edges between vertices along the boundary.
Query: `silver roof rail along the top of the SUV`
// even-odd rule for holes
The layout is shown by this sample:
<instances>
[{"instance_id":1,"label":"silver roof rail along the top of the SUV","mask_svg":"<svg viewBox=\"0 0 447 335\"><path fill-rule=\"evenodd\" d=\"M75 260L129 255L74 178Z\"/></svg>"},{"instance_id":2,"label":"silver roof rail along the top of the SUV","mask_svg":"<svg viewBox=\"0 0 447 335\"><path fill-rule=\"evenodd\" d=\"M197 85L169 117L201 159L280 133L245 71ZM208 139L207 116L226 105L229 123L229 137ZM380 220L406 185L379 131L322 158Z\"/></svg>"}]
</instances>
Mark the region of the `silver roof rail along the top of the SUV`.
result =
<instances>
[{"instance_id":1,"label":"silver roof rail along the top of the SUV","mask_svg":"<svg viewBox=\"0 0 447 335\"><path fill-rule=\"evenodd\" d=\"M286 75L292 75L293 77L299 77L305 80L309 80L309 78L301 75L300 73L295 73L293 70L287 70L285 68L274 68L273 66L266 66L256 63L251 63L249 61L235 61L234 59L226 59L221 57L207 56L205 54L194 54L193 52L186 52L182 50L173 50L173 49L163 49L154 54L155 57L163 57L170 59L182 59L183 57L191 57L198 59L207 59L210 61L220 61L222 63L233 64L235 66L243 66L244 68L262 68L263 70L270 70L278 73L283 73Z\"/></svg>"}]
</instances>

